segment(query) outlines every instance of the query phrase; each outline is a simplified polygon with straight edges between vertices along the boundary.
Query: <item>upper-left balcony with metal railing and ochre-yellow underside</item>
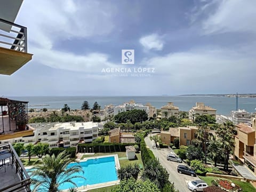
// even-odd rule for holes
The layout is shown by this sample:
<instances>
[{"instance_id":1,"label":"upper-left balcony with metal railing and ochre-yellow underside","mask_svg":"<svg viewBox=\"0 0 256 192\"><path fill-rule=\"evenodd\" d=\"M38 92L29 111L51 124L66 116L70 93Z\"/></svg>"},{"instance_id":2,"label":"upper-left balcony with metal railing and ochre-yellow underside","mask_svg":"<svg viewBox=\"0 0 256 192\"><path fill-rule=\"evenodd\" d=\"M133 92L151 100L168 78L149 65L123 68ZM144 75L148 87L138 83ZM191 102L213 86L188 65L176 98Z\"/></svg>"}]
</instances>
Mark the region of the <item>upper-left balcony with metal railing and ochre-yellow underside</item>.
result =
<instances>
[{"instance_id":1,"label":"upper-left balcony with metal railing and ochre-yellow underside","mask_svg":"<svg viewBox=\"0 0 256 192\"><path fill-rule=\"evenodd\" d=\"M27 28L0 19L0 74L12 75L32 55L27 50Z\"/></svg>"}]
</instances>

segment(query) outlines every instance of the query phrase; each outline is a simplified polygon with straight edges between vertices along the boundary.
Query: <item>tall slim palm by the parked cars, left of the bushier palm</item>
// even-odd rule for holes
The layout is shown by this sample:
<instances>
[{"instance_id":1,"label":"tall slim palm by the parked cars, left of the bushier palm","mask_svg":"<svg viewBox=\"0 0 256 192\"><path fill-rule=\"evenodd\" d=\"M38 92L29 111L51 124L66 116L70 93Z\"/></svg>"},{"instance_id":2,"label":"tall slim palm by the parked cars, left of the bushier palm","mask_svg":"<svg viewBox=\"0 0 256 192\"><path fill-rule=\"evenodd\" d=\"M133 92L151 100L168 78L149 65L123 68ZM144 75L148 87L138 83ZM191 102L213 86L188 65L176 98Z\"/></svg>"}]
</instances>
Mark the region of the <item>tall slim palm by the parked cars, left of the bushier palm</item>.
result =
<instances>
[{"instance_id":1,"label":"tall slim palm by the parked cars, left of the bushier palm","mask_svg":"<svg viewBox=\"0 0 256 192\"><path fill-rule=\"evenodd\" d=\"M204 163L207 163L207 145L209 145L209 140L212 137L212 134L210 133L209 126L207 123L202 123L198 127L198 130L196 132L197 139L199 139L202 142L202 149L204 151Z\"/></svg>"}]
</instances>

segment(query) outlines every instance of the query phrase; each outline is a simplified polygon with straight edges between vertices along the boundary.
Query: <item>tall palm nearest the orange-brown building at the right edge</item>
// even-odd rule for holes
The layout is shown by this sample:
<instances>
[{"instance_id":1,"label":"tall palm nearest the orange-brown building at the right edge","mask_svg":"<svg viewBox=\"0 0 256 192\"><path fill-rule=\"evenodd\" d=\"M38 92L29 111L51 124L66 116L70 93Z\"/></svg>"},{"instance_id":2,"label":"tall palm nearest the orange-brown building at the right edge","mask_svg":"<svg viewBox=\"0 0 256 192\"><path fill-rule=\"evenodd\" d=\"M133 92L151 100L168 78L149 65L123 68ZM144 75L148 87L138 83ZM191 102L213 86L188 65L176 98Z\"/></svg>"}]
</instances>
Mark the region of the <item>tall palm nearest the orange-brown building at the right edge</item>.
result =
<instances>
[{"instance_id":1,"label":"tall palm nearest the orange-brown building at the right edge","mask_svg":"<svg viewBox=\"0 0 256 192\"><path fill-rule=\"evenodd\" d=\"M221 141L221 148L224 153L224 167L225 171L228 171L229 154L235 148L234 133L236 132L235 126L232 122L228 121L223 123L217 130L218 137Z\"/></svg>"}]
</instances>

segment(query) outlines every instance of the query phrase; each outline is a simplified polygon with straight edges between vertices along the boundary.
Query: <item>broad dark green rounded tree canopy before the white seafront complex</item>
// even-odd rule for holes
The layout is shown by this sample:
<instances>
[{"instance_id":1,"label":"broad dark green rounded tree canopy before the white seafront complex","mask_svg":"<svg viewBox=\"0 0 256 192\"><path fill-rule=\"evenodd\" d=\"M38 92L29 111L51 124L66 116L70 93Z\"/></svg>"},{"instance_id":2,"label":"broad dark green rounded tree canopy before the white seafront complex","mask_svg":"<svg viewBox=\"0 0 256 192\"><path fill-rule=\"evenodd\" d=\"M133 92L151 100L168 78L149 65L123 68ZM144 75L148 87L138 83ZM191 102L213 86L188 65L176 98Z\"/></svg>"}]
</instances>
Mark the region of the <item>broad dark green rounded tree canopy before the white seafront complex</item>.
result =
<instances>
[{"instance_id":1,"label":"broad dark green rounded tree canopy before the white seafront complex","mask_svg":"<svg viewBox=\"0 0 256 192\"><path fill-rule=\"evenodd\" d=\"M130 120L132 124L136 122L143 122L148 119L148 114L146 111L133 109L130 111L125 111L115 115L115 121L117 123L126 123L127 120Z\"/></svg>"}]
</instances>

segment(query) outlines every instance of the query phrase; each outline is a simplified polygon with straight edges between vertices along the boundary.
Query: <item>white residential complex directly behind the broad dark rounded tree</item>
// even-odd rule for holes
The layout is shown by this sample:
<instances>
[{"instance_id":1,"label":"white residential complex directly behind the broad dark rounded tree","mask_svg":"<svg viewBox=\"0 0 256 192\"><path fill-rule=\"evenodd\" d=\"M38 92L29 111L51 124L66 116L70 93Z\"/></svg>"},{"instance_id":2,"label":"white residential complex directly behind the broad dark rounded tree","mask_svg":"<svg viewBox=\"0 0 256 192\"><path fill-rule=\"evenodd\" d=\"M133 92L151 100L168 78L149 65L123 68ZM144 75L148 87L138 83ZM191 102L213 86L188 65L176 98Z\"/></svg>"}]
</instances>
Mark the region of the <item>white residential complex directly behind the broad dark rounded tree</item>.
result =
<instances>
[{"instance_id":1,"label":"white residential complex directly behind the broad dark rounded tree","mask_svg":"<svg viewBox=\"0 0 256 192\"><path fill-rule=\"evenodd\" d=\"M135 103L135 101L131 100L130 102L123 103L123 105L116 106L114 108L114 115L118 113L122 113L125 111L130 111L133 109L140 109L146 111L148 117L156 116L156 108L151 106L150 103L147 103L146 106L143 106L141 103Z\"/></svg>"}]
</instances>

